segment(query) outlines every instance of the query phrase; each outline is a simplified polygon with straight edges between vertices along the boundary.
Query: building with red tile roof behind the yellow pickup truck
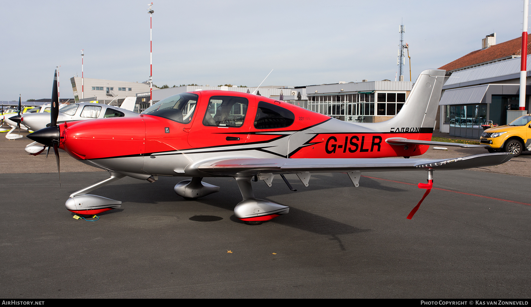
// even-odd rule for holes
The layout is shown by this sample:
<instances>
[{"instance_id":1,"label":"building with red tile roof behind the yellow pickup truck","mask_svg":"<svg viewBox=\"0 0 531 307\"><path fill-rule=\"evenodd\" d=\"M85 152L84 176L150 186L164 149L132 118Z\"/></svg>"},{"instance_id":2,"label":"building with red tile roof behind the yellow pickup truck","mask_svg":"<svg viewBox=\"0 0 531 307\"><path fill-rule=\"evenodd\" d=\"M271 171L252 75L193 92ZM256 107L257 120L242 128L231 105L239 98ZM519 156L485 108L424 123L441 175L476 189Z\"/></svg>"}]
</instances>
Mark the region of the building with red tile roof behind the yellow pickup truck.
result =
<instances>
[{"instance_id":1,"label":"building with red tile roof behind the yellow pickup truck","mask_svg":"<svg viewBox=\"0 0 531 307\"><path fill-rule=\"evenodd\" d=\"M521 37L495 45L492 33L483 39L482 47L440 67L449 76L439 102L441 132L479 138L487 121L506 125L522 113L518 111ZM528 55L527 77L531 76L530 61ZM527 82L526 93L530 90ZM529 95L525 108L529 110Z\"/></svg>"}]
</instances>

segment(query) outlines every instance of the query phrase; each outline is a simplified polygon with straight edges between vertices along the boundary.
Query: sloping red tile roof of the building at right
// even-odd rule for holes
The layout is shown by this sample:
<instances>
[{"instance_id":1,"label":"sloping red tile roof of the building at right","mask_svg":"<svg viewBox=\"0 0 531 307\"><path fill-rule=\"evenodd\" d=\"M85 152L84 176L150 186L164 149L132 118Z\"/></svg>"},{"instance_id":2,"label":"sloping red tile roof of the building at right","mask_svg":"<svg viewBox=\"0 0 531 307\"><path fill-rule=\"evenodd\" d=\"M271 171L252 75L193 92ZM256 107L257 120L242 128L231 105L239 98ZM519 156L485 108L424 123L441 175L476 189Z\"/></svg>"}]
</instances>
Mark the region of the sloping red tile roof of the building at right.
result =
<instances>
[{"instance_id":1,"label":"sloping red tile roof of the building at right","mask_svg":"<svg viewBox=\"0 0 531 307\"><path fill-rule=\"evenodd\" d=\"M450 62L439 69L446 71L456 70L461 67L475 65L479 63L493 61L498 58L508 57L511 55L520 55L522 46L522 37L508 40L491 46L486 49L479 49L473 51L465 56L462 56L456 61ZM527 39L527 54L531 54L531 37Z\"/></svg>"}]
</instances>

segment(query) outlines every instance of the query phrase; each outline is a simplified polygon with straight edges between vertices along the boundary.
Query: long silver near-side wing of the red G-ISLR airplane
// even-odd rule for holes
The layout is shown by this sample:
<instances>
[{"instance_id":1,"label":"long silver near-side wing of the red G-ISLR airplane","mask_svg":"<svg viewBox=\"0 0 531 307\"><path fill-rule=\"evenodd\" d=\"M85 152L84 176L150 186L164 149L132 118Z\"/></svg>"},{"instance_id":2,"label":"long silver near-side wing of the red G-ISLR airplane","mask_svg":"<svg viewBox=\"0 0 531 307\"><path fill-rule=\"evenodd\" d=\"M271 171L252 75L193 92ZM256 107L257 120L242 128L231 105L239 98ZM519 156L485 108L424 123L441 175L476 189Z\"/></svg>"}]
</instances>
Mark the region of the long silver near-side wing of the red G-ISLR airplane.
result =
<instances>
[{"instance_id":1,"label":"long silver near-side wing of the red G-ISLR airplane","mask_svg":"<svg viewBox=\"0 0 531 307\"><path fill-rule=\"evenodd\" d=\"M205 162L198 170L209 175L256 175L256 174L295 174L335 173L359 170L361 172L388 172L398 170L465 169L499 165L507 162L509 152L484 153L482 155L455 159L287 159L287 158L240 158Z\"/></svg>"}]
</instances>

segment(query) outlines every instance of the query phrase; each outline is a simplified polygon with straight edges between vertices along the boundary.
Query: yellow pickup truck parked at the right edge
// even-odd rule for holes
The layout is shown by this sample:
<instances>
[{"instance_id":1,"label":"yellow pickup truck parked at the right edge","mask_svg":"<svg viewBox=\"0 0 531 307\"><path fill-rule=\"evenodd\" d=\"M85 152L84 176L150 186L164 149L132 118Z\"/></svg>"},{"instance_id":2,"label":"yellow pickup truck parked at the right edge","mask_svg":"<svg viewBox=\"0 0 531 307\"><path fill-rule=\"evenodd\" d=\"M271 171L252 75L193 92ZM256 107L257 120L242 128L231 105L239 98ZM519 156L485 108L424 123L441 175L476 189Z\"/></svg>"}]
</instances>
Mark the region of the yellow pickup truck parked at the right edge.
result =
<instances>
[{"instance_id":1,"label":"yellow pickup truck parked at the right edge","mask_svg":"<svg viewBox=\"0 0 531 307\"><path fill-rule=\"evenodd\" d=\"M479 143L489 146L489 152L507 151L518 157L522 151L531 149L531 114L520 116L508 125L483 131Z\"/></svg>"}]
</instances>

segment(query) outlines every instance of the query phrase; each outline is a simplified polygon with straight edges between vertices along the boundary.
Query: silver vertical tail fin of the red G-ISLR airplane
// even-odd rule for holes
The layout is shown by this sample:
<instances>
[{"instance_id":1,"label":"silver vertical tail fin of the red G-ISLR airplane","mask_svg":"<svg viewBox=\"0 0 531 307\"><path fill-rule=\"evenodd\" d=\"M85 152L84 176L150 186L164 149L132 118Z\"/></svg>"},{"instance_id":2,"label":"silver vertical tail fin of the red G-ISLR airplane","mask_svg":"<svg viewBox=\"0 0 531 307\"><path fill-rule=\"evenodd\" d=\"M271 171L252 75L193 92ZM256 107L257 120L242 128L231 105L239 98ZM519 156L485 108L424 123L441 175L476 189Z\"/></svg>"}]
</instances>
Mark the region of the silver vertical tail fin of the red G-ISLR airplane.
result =
<instances>
[{"instance_id":1,"label":"silver vertical tail fin of the red G-ISLR airplane","mask_svg":"<svg viewBox=\"0 0 531 307\"><path fill-rule=\"evenodd\" d=\"M445 70L429 69L423 71L409 93L400 112L390 120L382 122L390 132L432 133L435 117L441 99ZM412 132L413 132L412 131Z\"/></svg>"}]
</instances>

